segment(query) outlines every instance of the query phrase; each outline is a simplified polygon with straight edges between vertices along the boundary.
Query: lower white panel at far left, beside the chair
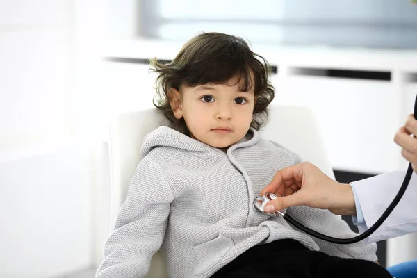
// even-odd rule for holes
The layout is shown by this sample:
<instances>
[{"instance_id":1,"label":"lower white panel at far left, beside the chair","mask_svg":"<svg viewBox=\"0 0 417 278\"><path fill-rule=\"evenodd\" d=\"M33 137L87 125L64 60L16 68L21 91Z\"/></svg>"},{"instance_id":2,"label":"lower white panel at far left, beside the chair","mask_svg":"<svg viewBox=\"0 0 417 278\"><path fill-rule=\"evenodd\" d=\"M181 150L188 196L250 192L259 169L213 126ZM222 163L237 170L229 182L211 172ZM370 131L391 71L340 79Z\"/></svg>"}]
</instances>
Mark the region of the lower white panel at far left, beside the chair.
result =
<instances>
[{"instance_id":1,"label":"lower white panel at far left, beside the chair","mask_svg":"<svg viewBox=\"0 0 417 278\"><path fill-rule=\"evenodd\" d=\"M0 163L0 277L56 277L90 265L90 158L65 148Z\"/></svg>"}]
</instances>

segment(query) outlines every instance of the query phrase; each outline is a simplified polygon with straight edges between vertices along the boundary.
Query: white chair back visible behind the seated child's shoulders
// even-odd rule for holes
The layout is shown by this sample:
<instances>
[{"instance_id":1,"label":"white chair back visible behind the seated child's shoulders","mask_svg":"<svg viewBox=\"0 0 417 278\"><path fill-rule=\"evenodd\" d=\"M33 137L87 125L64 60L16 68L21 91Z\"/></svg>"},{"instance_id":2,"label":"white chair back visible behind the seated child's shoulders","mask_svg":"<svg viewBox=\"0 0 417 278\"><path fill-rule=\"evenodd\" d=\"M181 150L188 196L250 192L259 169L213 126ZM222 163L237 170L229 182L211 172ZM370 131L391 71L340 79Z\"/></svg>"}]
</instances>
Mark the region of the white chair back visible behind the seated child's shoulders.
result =
<instances>
[{"instance_id":1,"label":"white chair back visible behind the seated child's shoulders","mask_svg":"<svg viewBox=\"0 0 417 278\"><path fill-rule=\"evenodd\" d=\"M111 123L111 229L139 163L142 140L161 124L166 124L166 120L154 109L124 113ZM263 138L288 147L334 179L316 116L309 108L271 105L270 120L261 133ZM147 277L168 277L161 252L153 256Z\"/></svg>"}]
</instances>

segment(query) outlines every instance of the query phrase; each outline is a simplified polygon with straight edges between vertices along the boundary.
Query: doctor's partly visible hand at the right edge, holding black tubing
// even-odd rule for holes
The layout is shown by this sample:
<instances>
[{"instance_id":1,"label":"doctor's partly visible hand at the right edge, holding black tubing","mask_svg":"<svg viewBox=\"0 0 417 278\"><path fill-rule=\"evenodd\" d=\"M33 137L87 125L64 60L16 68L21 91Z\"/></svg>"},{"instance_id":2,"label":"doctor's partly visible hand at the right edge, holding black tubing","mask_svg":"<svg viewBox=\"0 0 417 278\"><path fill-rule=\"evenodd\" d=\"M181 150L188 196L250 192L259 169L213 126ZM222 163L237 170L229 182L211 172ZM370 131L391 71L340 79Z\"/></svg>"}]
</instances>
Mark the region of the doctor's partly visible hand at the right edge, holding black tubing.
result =
<instances>
[{"instance_id":1,"label":"doctor's partly visible hand at the right edge, holding black tubing","mask_svg":"<svg viewBox=\"0 0 417 278\"><path fill-rule=\"evenodd\" d=\"M402 156L411 162L414 172L417 173L417 120L413 115L409 115L405 126L398 129L394 141L402 147Z\"/></svg>"}]
</instances>

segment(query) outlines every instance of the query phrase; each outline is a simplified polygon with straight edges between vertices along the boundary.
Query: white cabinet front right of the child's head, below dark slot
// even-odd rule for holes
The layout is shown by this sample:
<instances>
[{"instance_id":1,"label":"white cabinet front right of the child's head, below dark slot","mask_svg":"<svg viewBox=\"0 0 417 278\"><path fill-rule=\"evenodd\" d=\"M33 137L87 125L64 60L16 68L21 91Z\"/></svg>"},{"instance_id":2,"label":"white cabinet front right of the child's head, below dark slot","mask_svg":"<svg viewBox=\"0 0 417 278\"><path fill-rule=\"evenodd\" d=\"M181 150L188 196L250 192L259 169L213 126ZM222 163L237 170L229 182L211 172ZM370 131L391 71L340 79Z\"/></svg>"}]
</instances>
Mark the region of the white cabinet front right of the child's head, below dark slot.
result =
<instances>
[{"instance_id":1,"label":"white cabinet front right of the child's head, below dark slot","mask_svg":"<svg viewBox=\"0 0 417 278\"><path fill-rule=\"evenodd\" d=\"M388 151L395 131L389 81L290 74L285 88L286 102L316 112L334 168L379 173L397 167Z\"/></svg>"}]
</instances>

